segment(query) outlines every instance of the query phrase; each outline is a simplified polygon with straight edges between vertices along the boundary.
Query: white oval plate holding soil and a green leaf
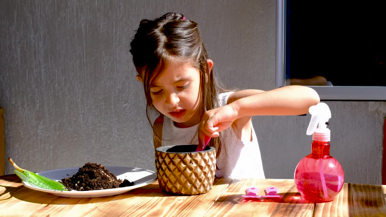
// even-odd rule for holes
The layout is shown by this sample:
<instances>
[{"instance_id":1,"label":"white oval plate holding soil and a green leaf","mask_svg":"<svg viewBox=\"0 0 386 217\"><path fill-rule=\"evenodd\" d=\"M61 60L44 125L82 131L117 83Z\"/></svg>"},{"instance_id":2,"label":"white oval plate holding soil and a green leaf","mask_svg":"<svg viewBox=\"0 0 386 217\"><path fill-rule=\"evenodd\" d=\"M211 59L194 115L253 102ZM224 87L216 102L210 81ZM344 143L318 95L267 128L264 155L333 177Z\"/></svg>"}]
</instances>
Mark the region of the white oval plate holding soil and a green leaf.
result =
<instances>
[{"instance_id":1,"label":"white oval plate holding soil and a green leaf","mask_svg":"<svg viewBox=\"0 0 386 217\"><path fill-rule=\"evenodd\" d=\"M103 190L93 190L93 191L55 191L55 190L47 190L43 188L37 188L29 183L25 183L22 181L22 184L27 188L51 193L53 195L62 196L62 197L105 197L111 195L117 195L120 193L128 192L135 188L139 188L145 185L149 185L157 179L157 175L155 172L150 170L144 170L141 168L133 168L133 167L124 167L124 166L105 166L105 168L110 171L110 173L117 176L118 179L124 180L127 179L129 181L134 181L135 185L123 187L123 188L111 188L111 189L103 189ZM50 170L41 173L37 173L39 175L45 176L52 180L62 180L63 178L71 177L73 174L77 173L79 167L66 168L60 170Z\"/></svg>"}]
</instances>

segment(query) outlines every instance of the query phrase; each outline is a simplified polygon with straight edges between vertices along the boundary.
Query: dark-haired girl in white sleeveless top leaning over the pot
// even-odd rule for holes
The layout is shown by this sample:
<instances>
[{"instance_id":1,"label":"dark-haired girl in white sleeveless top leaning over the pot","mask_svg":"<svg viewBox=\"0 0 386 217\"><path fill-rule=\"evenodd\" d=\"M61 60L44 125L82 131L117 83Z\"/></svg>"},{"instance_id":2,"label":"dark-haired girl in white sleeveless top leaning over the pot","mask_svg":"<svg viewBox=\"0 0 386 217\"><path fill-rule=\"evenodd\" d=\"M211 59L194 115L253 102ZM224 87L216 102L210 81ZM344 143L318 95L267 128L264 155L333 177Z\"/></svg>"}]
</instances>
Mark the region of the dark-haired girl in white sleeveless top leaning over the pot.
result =
<instances>
[{"instance_id":1,"label":"dark-haired girl in white sleeveless top leaning over the pot","mask_svg":"<svg viewBox=\"0 0 386 217\"><path fill-rule=\"evenodd\" d=\"M151 125L149 108L160 113L152 125L154 147L198 144L205 135L212 137L208 146L216 148L217 177L265 178L251 117L306 114L320 101L305 86L225 90L197 23L182 14L142 20L130 46Z\"/></svg>"}]
</instances>

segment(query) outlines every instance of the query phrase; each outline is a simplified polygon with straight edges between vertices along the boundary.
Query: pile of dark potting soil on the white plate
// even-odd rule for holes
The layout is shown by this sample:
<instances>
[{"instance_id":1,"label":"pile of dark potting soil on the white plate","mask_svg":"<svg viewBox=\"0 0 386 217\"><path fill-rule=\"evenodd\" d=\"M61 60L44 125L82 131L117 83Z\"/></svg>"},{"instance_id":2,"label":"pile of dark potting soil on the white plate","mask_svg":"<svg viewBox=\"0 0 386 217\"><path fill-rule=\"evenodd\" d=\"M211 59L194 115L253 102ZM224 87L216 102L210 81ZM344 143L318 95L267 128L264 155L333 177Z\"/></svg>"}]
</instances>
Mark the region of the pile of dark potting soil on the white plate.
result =
<instances>
[{"instance_id":1,"label":"pile of dark potting soil on the white plate","mask_svg":"<svg viewBox=\"0 0 386 217\"><path fill-rule=\"evenodd\" d=\"M134 185L134 182L127 179L124 181L117 179L104 166L96 163L86 163L76 174L62 179L61 183L70 191L103 190Z\"/></svg>"}]
</instances>

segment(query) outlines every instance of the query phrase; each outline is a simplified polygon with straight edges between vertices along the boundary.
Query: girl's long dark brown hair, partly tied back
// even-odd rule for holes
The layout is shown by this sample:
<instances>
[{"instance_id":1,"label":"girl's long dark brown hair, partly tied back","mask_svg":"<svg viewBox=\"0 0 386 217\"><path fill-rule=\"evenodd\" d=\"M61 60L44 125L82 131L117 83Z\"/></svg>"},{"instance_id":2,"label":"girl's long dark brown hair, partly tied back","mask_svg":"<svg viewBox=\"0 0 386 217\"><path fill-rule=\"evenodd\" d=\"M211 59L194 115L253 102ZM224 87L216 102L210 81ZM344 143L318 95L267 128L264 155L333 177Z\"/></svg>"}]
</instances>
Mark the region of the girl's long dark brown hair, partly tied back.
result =
<instances>
[{"instance_id":1,"label":"girl's long dark brown hair, partly tied back","mask_svg":"<svg viewBox=\"0 0 386 217\"><path fill-rule=\"evenodd\" d=\"M201 111L201 117L206 111L219 106L218 93L225 92L225 89L217 80L213 69L209 71L208 54L197 26L196 22L176 13L168 13L155 20L144 19L130 43L135 68L138 73L141 70L145 72L141 77L147 100L146 116L152 127L149 109L156 109L149 89L168 61L191 62L200 71L200 98L203 103L198 111ZM159 135L156 137L160 139ZM208 146L216 147L218 156L221 151L220 137L210 139Z\"/></svg>"}]
</instances>

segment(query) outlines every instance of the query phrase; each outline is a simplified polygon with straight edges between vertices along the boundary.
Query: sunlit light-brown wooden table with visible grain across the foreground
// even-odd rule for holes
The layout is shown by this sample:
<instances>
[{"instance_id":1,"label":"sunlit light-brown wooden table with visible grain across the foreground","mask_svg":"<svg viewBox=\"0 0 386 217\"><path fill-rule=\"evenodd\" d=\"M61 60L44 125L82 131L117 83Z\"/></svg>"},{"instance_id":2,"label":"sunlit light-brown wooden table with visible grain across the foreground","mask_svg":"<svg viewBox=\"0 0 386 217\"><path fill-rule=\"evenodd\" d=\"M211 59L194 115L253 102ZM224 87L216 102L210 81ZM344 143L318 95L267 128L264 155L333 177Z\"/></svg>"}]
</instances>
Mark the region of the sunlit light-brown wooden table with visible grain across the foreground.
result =
<instances>
[{"instance_id":1,"label":"sunlit light-brown wooden table with visible grain across the foreground","mask_svg":"<svg viewBox=\"0 0 386 217\"><path fill-rule=\"evenodd\" d=\"M278 188L282 200L243 200L250 186L259 194ZM216 179L210 192L169 195L157 181L120 195L67 198L24 187L16 175L0 176L0 216L386 216L385 185L345 183L334 201L302 200L293 180Z\"/></svg>"}]
</instances>

